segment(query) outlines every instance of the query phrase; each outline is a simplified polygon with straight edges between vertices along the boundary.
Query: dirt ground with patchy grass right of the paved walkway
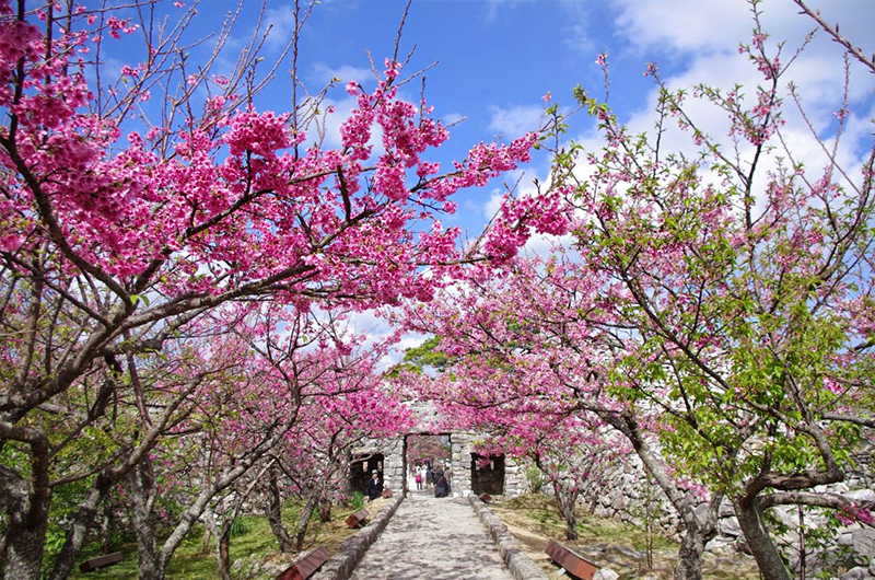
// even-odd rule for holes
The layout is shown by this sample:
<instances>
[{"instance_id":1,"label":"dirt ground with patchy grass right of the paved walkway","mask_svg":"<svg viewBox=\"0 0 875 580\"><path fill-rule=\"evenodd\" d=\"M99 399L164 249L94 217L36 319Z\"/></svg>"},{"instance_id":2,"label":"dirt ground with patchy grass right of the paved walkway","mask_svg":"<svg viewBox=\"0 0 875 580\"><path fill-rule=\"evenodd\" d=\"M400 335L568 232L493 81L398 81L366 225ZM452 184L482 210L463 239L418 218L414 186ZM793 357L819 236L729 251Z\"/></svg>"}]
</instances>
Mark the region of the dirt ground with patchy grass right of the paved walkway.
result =
<instances>
[{"instance_id":1,"label":"dirt ground with patchy grass right of the paved walkway","mask_svg":"<svg viewBox=\"0 0 875 580\"><path fill-rule=\"evenodd\" d=\"M579 553L599 568L610 568L620 580L670 580L677 544L655 538L653 566L648 566L643 530L609 520L594 518L581 510L578 513L576 541L564 540L564 521L556 503L547 496L523 496L513 499L497 498L489 509L499 517L520 542L523 552L552 579L567 579L558 573L559 567L545 553L550 540ZM758 580L756 562L744 554L707 554L702 567L707 580Z\"/></svg>"}]
</instances>

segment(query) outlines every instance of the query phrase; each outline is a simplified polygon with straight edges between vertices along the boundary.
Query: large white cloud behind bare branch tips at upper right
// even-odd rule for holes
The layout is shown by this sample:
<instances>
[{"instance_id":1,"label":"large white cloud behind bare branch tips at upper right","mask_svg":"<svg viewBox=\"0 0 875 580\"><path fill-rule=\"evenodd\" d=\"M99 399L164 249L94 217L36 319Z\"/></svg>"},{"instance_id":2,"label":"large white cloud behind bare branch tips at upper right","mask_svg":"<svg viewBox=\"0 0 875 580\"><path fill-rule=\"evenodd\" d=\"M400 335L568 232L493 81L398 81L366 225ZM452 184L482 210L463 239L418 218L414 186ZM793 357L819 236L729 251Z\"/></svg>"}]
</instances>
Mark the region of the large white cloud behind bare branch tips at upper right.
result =
<instances>
[{"instance_id":1,"label":"large white cloud behind bare branch tips at upper right","mask_svg":"<svg viewBox=\"0 0 875 580\"><path fill-rule=\"evenodd\" d=\"M852 40L862 42L870 36L868 26L864 23L875 21L875 2L813 0L809 3L812 8L820 9L828 22L840 22L842 34ZM684 68L672 77L664 77L670 89L684 88L689 92L695 85L704 83L727 91L738 83L743 85L742 93L746 95L747 106L752 106L757 85L768 84L756 66L746 56L738 54L739 43L749 42L755 25L747 2L676 0L670 10L662 3L637 0L619 0L618 4L620 13L616 20L617 34L622 42L641 51L643 58L653 53L682 54L682 57L673 58L673 65L680 62L685 65ZM768 0L760 4L760 10L763 30L770 35L767 51L773 56L777 43L786 40L781 60L788 62L803 44L805 35L816 27L816 23L800 15L798 9L790 1ZM804 162L812 171L819 172L826 165L827 158L817 143L817 138L806 128L806 121L792 102L786 86L791 81L796 84L813 128L820 138L828 140L835 136L833 112L841 107L843 97L844 70L841 57L840 47L826 33L819 32L780 80L779 96L783 98L782 116L786 121L782 134L796 161ZM852 67L849 96L856 115L850 119L851 125L839 151L841 162L848 167L854 167L861 161L861 152L853 152L858 149L860 139L868 136L864 127L865 119L859 109L862 107L866 112L871 111L873 89L873 76L861 67ZM631 134L648 131L651 136L654 135L657 98L658 93L654 88L648 94L646 104L623 119ZM726 112L691 96L684 106L697 127L722 142L724 151L733 153L727 136L730 120ZM661 139L664 152L695 154L697 148L692 144L689 132L679 130L674 119L668 120L667 129ZM597 151L603 147L602 139L591 132L582 135L579 141L588 151ZM779 143L775 141L775 144ZM742 163L750 160L752 151L752 146L743 143ZM772 156L761 160L760 163L760 183L755 184L757 187L763 185L766 172L774 166L775 159ZM582 171L586 169L582 167Z\"/></svg>"}]
</instances>

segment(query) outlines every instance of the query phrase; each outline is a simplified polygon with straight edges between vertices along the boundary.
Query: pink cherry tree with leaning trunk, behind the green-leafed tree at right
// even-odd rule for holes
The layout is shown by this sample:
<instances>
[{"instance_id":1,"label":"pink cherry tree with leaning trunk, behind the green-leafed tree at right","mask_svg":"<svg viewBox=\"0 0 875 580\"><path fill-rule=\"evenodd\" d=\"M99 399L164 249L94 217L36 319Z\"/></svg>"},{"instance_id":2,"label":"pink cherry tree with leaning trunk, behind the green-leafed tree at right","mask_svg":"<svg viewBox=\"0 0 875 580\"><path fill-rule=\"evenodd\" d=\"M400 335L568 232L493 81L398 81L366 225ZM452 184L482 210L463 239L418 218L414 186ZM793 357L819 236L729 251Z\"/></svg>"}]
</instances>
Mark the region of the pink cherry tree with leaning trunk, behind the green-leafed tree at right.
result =
<instances>
[{"instance_id":1,"label":"pink cherry tree with leaning trunk, behind the green-leafed tree at right","mask_svg":"<svg viewBox=\"0 0 875 580\"><path fill-rule=\"evenodd\" d=\"M558 500L579 494L579 474L569 479L565 471L575 457L631 449L684 522L676 577L701 578L722 492L682 477L658 441L661 409L617 387L615 375L622 376L638 341L616 323L606 280L559 250L546 260L517 259L503 277L470 272L433 302L407 309L406 324L439 336L438 349L454 361L435 381L417 384L423 396L445 402L453 421L502 426L521 449L539 451L560 487ZM587 467L595 466L580 465ZM562 509L568 519L570 507Z\"/></svg>"}]
</instances>

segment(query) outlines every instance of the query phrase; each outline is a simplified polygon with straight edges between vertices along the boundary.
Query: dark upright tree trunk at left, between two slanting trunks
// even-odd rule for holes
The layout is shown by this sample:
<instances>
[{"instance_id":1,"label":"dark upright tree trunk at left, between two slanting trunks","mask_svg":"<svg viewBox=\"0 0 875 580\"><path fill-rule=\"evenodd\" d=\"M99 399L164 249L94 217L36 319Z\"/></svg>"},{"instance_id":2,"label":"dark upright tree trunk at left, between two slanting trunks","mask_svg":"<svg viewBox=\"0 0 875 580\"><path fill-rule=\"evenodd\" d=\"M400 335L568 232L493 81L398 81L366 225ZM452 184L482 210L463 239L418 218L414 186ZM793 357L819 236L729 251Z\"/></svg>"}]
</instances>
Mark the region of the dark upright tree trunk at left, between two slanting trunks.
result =
<instances>
[{"instance_id":1,"label":"dark upright tree trunk at left, between two slanting trunks","mask_svg":"<svg viewBox=\"0 0 875 580\"><path fill-rule=\"evenodd\" d=\"M155 500L152 464L144 459L127 475L131 503L131 523L137 536L137 556L140 580L164 580L164 566L155 540L155 519L152 506Z\"/></svg>"}]
</instances>

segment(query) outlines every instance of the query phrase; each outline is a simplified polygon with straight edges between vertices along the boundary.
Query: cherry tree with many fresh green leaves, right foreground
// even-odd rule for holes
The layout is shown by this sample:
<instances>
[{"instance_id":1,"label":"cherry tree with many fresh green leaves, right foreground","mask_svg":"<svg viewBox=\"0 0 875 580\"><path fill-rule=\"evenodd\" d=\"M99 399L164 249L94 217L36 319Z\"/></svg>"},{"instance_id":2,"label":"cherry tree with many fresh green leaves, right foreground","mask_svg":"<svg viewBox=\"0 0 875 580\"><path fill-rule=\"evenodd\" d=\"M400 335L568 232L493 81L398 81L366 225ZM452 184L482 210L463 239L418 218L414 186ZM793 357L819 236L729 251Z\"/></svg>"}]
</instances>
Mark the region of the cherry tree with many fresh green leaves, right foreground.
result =
<instances>
[{"instance_id":1,"label":"cherry tree with many fresh green leaves, right foreground","mask_svg":"<svg viewBox=\"0 0 875 580\"><path fill-rule=\"evenodd\" d=\"M875 426L865 394L875 149L866 146L858 169L840 163L845 88L832 142L813 135L826 165L803 164L782 114L781 84L795 57L769 45L757 10L752 40L740 48L763 77L754 102L740 88L692 93L727 114L727 147L651 67L661 88L657 135L676 117L700 154L629 135L581 92L607 144L559 162L585 159L594 169L586 181L565 174L586 214L578 245L604 277L614 324L634 332L612 388L661 409L660 440L680 473L727 495L763 576L786 580L766 525L770 508L829 507L872 520L815 488L843 480L861 428ZM792 84L789 97L804 115Z\"/></svg>"}]
</instances>

